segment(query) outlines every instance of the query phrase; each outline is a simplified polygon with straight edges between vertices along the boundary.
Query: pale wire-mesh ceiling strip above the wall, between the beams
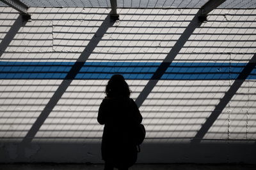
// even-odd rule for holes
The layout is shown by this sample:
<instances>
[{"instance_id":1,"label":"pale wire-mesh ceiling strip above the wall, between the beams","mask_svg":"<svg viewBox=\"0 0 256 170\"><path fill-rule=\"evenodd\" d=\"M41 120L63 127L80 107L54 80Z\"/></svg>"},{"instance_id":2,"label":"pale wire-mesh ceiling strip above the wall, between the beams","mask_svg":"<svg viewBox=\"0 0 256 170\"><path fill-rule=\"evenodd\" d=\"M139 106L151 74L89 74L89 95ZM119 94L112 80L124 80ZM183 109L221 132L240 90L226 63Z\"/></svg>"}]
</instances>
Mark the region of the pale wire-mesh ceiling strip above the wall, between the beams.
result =
<instances>
[{"instance_id":1,"label":"pale wire-mesh ceiling strip above the wall, between the beams","mask_svg":"<svg viewBox=\"0 0 256 170\"><path fill-rule=\"evenodd\" d=\"M110 0L20 0L29 7L110 8ZM208 0L117 0L118 8L200 8ZM0 3L0 6L6 6ZM256 8L255 0L227 0L218 8Z\"/></svg>"}]
</instances>

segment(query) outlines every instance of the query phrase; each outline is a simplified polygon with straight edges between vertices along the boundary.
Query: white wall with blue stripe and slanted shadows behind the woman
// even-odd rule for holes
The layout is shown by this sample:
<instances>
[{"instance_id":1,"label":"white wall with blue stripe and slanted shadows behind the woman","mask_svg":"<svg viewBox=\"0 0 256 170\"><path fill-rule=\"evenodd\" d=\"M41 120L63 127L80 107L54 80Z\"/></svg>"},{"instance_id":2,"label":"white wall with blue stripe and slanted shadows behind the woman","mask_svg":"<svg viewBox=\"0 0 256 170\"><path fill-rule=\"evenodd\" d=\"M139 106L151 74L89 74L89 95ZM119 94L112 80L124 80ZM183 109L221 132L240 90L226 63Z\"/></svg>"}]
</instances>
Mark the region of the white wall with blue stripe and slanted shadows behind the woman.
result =
<instances>
[{"instance_id":1,"label":"white wall with blue stripe and slanted shadows behind the woman","mask_svg":"<svg viewBox=\"0 0 256 170\"><path fill-rule=\"evenodd\" d=\"M101 162L97 111L124 74L138 162L255 163L255 10L0 8L1 162Z\"/></svg>"}]
</instances>

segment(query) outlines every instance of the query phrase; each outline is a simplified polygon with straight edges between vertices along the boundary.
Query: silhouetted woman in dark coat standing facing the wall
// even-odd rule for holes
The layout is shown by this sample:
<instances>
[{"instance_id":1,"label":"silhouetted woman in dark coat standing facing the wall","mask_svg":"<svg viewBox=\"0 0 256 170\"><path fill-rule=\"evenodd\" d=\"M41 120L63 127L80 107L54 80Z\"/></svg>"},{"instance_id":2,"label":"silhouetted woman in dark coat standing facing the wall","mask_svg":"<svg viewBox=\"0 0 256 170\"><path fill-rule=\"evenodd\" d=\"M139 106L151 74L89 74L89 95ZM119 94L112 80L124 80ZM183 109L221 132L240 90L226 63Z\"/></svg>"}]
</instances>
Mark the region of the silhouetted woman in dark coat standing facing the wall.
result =
<instances>
[{"instance_id":1,"label":"silhouetted woman in dark coat standing facing the wall","mask_svg":"<svg viewBox=\"0 0 256 170\"><path fill-rule=\"evenodd\" d=\"M104 125L101 153L104 170L128 169L137 160L137 147L131 142L132 122L141 123L130 89L120 74L113 75L106 85L106 97L100 104L98 122ZM130 132L130 133L129 133ZM130 135L129 135L130 134Z\"/></svg>"}]
</instances>

